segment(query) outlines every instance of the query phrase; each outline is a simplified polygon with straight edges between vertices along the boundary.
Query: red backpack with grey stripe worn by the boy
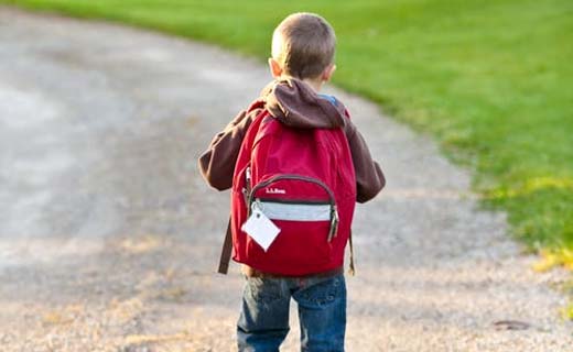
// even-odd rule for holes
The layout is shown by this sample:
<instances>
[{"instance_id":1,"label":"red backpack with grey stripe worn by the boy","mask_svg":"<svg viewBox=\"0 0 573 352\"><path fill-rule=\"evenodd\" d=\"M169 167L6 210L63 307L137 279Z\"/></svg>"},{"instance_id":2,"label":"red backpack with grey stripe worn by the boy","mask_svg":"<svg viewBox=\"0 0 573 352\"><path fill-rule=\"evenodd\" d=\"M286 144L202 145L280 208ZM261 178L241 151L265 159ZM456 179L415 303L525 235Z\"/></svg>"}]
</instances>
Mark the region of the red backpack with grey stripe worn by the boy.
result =
<instances>
[{"instance_id":1,"label":"red backpack with grey stripe worn by the boy","mask_svg":"<svg viewBox=\"0 0 573 352\"><path fill-rule=\"evenodd\" d=\"M256 102L250 110L260 108L262 103ZM235 166L233 258L284 276L338 268L344 264L355 204L356 177L343 129L293 129L261 110ZM280 229L267 251L241 230L253 211ZM227 266L228 260L226 266L221 261L219 272L226 273Z\"/></svg>"}]
</instances>

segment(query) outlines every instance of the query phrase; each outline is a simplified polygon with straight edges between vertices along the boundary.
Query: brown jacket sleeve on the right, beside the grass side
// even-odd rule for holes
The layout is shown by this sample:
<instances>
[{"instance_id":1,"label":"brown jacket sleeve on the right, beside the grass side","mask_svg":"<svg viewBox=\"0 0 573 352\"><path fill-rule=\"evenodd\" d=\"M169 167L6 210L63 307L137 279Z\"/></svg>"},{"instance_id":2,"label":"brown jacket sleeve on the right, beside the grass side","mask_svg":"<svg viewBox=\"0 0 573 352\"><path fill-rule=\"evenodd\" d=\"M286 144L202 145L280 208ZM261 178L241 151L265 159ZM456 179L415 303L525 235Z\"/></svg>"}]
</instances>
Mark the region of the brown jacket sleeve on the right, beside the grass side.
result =
<instances>
[{"instance_id":1,"label":"brown jacket sleeve on the right, beside the grass side","mask_svg":"<svg viewBox=\"0 0 573 352\"><path fill-rule=\"evenodd\" d=\"M386 178L380 165L372 160L363 135L350 120L346 123L346 136L356 174L356 201L366 202L380 193Z\"/></svg>"}]
</instances>

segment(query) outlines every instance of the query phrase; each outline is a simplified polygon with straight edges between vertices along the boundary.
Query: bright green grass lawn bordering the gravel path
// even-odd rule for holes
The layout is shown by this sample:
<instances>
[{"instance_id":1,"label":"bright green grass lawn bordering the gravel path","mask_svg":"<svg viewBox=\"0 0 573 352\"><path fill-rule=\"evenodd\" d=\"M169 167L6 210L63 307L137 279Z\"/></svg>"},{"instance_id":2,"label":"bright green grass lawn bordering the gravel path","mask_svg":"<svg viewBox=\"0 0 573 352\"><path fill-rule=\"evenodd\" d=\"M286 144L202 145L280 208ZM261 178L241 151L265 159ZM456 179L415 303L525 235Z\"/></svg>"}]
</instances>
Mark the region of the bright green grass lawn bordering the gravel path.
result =
<instances>
[{"instance_id":1,"label":"bright green grass lawn bordering the gravel path","mask_svg":"<svg viewBox=\"0 0 573 352\"><path fill-rule=\"evenodd\" d=\"M571 0L0 3L152 28L260 58L288 13L318 12L337 32L337 85L432 134L475 172L484 205L507 210L530 249L573 249Z\"/></svg>"}]
</instances>

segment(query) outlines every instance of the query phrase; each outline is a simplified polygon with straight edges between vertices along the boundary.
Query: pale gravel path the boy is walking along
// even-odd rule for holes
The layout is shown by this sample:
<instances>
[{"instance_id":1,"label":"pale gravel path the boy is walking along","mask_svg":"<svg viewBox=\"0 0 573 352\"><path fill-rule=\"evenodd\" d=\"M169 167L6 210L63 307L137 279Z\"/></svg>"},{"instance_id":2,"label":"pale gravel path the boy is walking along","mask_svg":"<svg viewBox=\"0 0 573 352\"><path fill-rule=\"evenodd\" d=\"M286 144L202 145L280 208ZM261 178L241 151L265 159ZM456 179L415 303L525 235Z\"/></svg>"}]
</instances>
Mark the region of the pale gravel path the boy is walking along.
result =
<instances>
[{"instance_id":1,"label":"pale gravel path the boy is walking along","mask_svg":"<svg viewBox=\"0 0 573 352\"><path fill-rule=\"evenodd\" d=\"M0 8L1 351L235 350L228 194L195 161L268 80L212 46ZM347 350L572 351L564 274L532 273L429 139L333 91L389 180L357 211Z\"/></svg>"}]
</instances>

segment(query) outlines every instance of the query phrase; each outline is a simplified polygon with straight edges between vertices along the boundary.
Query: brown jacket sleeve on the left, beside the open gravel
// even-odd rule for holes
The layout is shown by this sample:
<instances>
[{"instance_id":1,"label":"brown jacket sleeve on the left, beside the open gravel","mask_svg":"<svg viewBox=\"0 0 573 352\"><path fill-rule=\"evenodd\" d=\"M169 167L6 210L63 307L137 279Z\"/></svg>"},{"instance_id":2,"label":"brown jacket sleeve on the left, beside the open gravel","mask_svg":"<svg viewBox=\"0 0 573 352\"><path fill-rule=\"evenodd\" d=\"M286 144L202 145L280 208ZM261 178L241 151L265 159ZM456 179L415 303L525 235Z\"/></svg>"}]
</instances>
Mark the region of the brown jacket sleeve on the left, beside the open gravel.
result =
<instances>
[{"instance_id":1,"label":"brown jacket sleeve on the left, beside the open gravel","mask_svg":"<svg viewBox=\"0 0 573 352\"><path fill-rule=\"evenodd\" d=\"M235 163L242 139L259 111L241 111L215 135L209 147L199 156L198 167L209 186L225 190L233 186Z\"/></svg>"}]
</instances>

